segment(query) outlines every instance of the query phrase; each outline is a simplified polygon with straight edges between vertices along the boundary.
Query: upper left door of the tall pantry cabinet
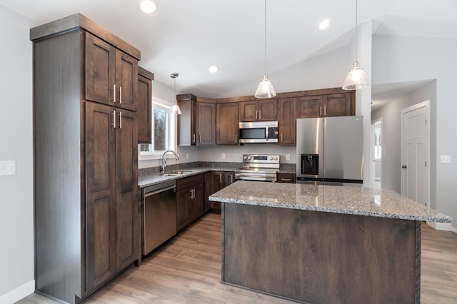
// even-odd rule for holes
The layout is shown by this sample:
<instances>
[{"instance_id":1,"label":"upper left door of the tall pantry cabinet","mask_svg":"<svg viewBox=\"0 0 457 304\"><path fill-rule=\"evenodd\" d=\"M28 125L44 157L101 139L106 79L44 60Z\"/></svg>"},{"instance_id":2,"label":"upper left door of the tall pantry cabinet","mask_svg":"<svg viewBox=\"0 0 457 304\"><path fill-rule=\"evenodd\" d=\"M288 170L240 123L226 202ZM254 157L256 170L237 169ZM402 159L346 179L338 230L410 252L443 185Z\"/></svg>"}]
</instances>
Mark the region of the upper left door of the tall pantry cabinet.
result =
<instances>
[{"instance_id":1,"label":"upper left door of the tall pantry cabinet","mask_svg":"<svg viewBox=\"0 0 457 304\"><path fill-rule=\"evenodd\" d=\"M116 49L86 32L86 100L114 105Z\"/></svg>"}]
</instances>

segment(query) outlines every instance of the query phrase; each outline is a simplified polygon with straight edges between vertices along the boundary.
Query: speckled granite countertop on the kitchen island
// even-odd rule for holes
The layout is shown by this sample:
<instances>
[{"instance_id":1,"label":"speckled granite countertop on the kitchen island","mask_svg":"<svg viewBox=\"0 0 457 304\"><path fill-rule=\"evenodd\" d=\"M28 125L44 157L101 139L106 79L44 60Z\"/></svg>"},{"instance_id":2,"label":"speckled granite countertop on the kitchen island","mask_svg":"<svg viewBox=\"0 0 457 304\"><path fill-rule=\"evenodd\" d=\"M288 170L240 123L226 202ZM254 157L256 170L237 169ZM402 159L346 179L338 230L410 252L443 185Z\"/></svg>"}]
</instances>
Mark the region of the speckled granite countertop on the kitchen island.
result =
<instances>
[{"instance_id":1,"label":"speckled granite countertop on the kitchen island","mask_svg":"<svg viewBox=\"0 0 457 304\"><path fill-rule=\"evenodd\" d=\"M452 218L400 194L374 188L236 181L209 201L451 223Z\"/></svg>"}]
</instances>

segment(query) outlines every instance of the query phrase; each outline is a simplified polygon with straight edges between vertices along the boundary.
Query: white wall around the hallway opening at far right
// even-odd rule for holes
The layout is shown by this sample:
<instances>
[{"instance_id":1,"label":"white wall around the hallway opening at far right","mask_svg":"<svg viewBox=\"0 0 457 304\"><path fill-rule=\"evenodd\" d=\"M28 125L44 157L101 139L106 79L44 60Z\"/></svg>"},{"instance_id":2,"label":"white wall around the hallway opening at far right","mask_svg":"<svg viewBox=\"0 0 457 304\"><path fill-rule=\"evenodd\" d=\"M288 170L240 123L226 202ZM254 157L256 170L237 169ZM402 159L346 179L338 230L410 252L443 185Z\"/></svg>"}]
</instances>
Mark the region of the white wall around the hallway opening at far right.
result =
<instances>
[{"instance_id":1,"label":"white wall around the hallway opening at far right","mask_svg":"<svg viewBox=\"0 0 457 304\"><path fill-rule=\"evenodd\" d=\"M456 54L457 39L373 37L373 83L436 79L436 109L434 103L431 108L431 138L436 138L431 142L431 162L436 166L436 179L433 181L431 176L431 206L451 216L454 228L457 227ZM451 163L440 163L441 155L451 156Z\"/></svg>"}]
</instances>

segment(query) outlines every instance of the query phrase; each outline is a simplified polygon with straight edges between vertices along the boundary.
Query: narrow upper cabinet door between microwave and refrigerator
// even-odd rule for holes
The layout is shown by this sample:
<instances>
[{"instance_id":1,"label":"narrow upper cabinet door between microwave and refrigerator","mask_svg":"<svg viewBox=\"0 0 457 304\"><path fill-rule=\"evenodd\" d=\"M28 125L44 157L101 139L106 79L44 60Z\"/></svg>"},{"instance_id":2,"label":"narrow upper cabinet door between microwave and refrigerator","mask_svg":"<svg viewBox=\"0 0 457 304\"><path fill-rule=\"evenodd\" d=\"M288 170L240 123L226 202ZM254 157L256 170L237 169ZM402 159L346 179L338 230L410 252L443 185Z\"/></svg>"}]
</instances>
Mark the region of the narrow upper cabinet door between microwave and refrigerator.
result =
<instances>
[{"instance_id":1,"label":"narrow upper cabinet door between microwave and refrigerator","mask_svg":"<svg viewBox=\"0 0 457 304\"><path fill-rule=\"evenodd\" d=\"M278 101L278 143L295 145L295 98L281 98Z\"/></svg>"}]
</instances>

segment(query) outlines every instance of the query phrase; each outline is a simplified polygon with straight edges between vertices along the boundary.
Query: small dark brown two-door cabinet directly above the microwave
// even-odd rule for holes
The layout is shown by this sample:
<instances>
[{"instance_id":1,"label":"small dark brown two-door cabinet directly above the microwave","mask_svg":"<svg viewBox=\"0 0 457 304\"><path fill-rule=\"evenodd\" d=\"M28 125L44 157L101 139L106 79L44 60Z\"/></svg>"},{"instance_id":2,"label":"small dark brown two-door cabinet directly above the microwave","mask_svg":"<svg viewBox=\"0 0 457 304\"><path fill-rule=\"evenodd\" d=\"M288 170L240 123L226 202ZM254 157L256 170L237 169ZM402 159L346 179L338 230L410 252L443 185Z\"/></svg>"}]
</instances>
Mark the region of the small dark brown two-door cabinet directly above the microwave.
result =
<instances>
[{"instance_id":1,"label":"small dark brown two-door cabinet directly above the microwave","mask_svg":"<svg viewBox=\"0 0 457 304\"><path fill-rule=\"evenodd\" d=\"M276 121L276 100L243 101L239 104L239 121Z\"/></svg>"}]
</instances>

